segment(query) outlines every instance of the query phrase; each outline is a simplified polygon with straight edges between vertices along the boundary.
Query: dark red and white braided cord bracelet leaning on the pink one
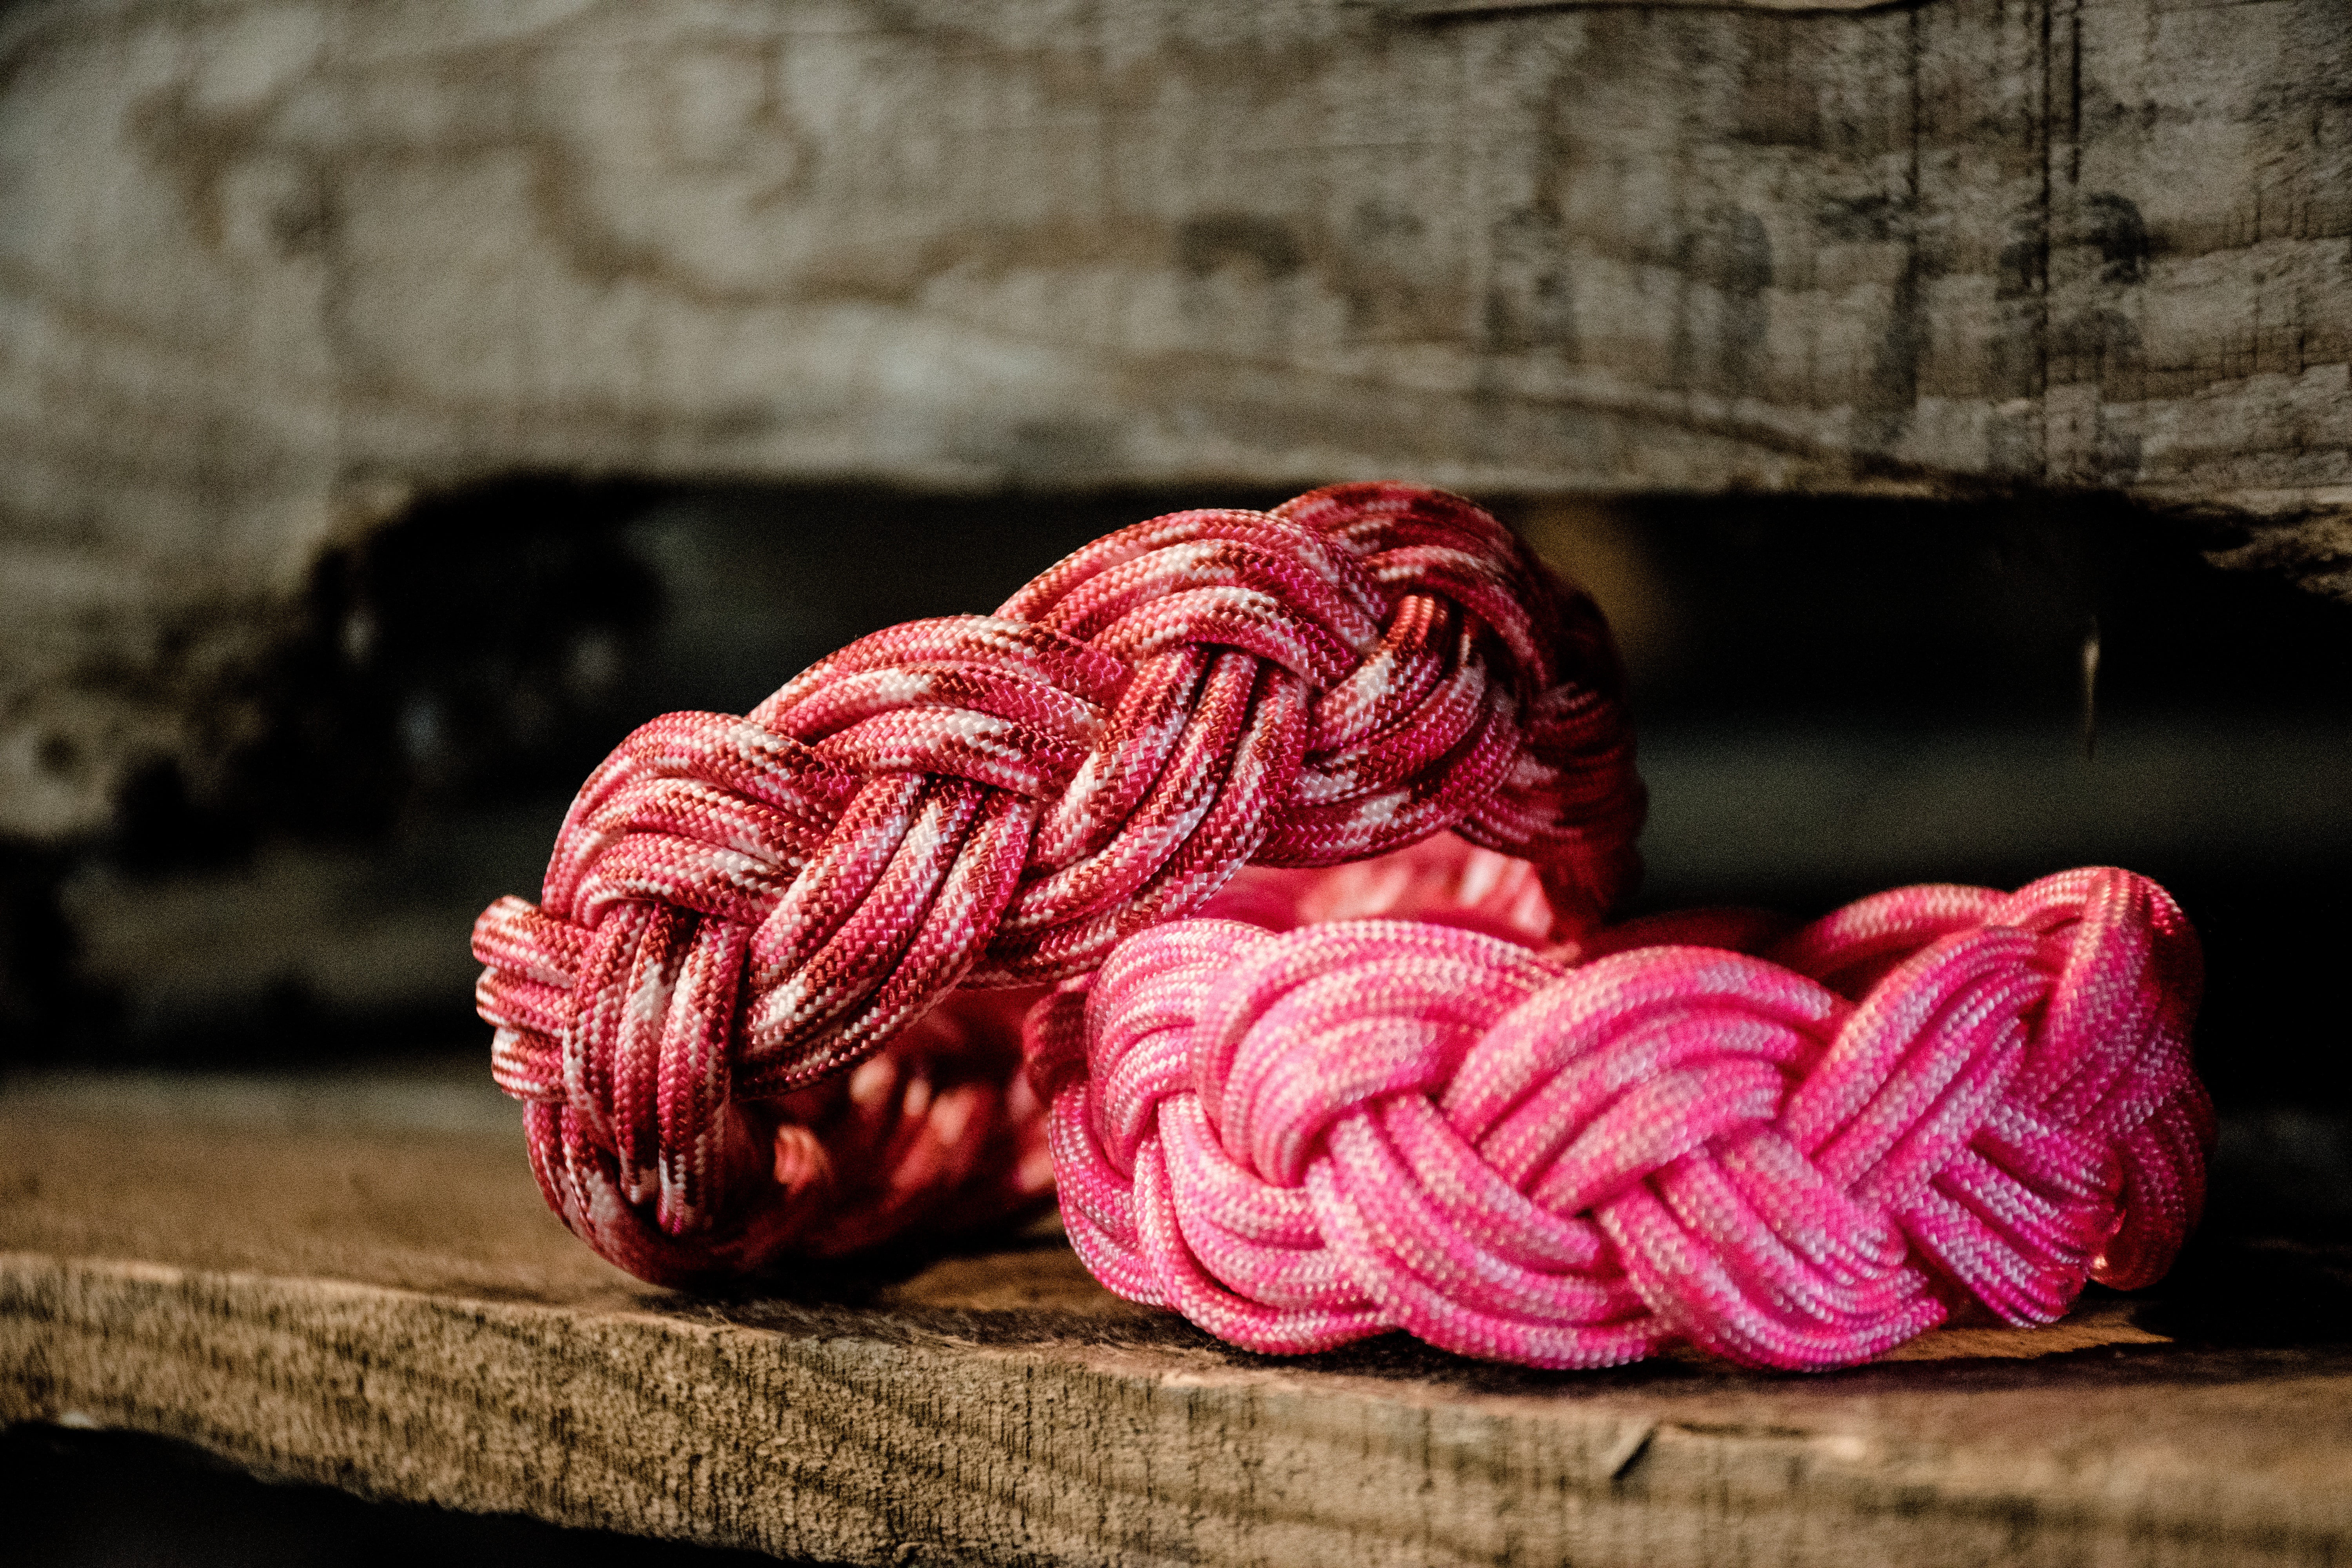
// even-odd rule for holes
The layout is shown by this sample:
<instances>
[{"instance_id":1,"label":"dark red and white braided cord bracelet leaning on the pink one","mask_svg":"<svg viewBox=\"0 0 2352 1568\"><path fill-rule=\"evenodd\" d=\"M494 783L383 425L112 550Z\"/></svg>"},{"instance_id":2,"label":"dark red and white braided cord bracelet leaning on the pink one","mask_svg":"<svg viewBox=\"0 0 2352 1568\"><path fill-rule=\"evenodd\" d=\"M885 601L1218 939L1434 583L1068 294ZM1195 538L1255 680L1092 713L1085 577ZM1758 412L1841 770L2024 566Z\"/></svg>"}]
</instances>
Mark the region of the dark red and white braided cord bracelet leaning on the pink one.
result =
<instances>
[{"instance_id":1,"label":"dark red and white braided cord bracelet leaning on the pink one","mask_svg":"<svg viewBox=\"0 0 2352 1568\"><path fill-rule=\"evenodd\" d=\"M1244 863L1454 827L1529 858L1564 926L1597 922L1637 872L1621 686L1592 602L1456 496L1343 484L1122 529L995 616L896 625L746 717L628 736L539 905L475 924L494 1074L529 1105L548 1201L607 1258L659 1281L760 1267L811 1246L809 1171L847 1168L814 1159L793 1095L957 987L1091 971ZM985 1084L1018 1145L1016 1053L946 1037L875 1058L894 1114Z\"/></svg>"}]
</instances>

